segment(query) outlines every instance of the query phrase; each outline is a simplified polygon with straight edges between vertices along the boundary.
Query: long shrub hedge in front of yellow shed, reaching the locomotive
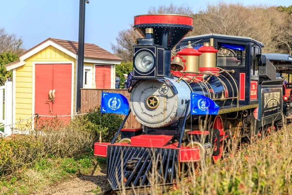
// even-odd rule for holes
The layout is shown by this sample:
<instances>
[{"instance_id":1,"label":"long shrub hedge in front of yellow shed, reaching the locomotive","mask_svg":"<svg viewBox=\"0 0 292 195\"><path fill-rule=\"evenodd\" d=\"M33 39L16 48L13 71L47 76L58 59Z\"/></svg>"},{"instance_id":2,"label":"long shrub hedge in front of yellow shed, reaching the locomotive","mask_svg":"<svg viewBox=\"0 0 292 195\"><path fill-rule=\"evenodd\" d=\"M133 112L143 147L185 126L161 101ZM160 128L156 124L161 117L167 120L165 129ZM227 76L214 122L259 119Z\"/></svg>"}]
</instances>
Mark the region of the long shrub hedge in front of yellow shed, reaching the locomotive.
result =
<instances>
[{"instance_id":1,"label":"long shrub hedge in front of yellow shed, reaching the locomotive","mask_svg":"<svg viewBox=\"0 0 292 195\"><path fill-rule=\"evenodd\" d=\"M102 114L101 132L103 141L109 142L117 132L123 119L120 115ZM91 152L100 132L100 109L88 115L74 117L64 125L54 118L43 123L33 135L0 137L0 176L16 175L21 168L35 167L36 171L47 169L51 163L47 158L78 157ZM76 162L75 162L76 163ZM76 173L75 165L68 160L62 166L67 173ZM80 158L78 167L91 167L90 158Z\"/></svg>"}]
</instances>

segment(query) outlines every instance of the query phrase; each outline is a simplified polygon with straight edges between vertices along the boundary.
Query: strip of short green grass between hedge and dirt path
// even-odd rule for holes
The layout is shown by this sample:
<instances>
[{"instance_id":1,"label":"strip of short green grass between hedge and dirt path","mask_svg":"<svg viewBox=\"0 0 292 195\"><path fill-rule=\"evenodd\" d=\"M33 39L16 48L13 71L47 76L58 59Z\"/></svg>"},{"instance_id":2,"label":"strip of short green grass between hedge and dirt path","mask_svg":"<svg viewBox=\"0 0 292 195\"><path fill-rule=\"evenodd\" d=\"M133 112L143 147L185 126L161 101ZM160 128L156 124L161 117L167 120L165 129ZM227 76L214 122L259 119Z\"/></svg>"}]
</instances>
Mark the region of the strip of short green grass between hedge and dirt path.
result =
<instances>
[{"instance_id":1,"label":"strip of short green grass between hedge and dirt path","mask_svg":"<svg viewBox=\"0 0 292 195\"><path fill-rule=\"evenodd\" d=\"M22 169L17 175L1 178L0 195L31 194L42 187L64 181L76 174L86 174L105 165L105 158L93 157L93 153L78 158L54 158L47 156L36 165ZM98 193L100 188L91 190Z\"/></svg>"}]
</instances>

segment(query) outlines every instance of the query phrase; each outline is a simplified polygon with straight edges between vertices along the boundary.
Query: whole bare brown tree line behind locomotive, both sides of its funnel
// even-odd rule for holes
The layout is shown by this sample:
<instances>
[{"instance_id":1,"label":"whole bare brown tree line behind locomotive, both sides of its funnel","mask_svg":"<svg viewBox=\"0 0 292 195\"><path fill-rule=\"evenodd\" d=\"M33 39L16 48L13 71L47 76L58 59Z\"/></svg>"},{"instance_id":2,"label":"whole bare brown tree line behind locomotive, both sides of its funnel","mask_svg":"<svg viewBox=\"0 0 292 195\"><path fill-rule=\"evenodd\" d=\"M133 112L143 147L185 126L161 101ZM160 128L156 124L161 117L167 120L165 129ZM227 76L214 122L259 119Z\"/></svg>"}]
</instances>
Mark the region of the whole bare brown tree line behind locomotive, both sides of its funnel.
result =
<instances>
[{"instance_id":1,"label":"whole bare brown tree line behind locomotive, both sides of its funnel","mask_svg":"<svg viewBox=\"0 0 292 195\"><path fill-rule=\"evenodd\" d=\"M160 5L150 7L149 14L181 14L193 17L193 31L188 36L208 33L244 36L256 39L266 46L265 53L292 55L292 6L245 6L241 3L208 4L205 10L193 14L191 7ZM132 28L119 32L117 44L112 44L116 55L132 60L132 45L137 34Z\"/></svg>"}]
</instances>

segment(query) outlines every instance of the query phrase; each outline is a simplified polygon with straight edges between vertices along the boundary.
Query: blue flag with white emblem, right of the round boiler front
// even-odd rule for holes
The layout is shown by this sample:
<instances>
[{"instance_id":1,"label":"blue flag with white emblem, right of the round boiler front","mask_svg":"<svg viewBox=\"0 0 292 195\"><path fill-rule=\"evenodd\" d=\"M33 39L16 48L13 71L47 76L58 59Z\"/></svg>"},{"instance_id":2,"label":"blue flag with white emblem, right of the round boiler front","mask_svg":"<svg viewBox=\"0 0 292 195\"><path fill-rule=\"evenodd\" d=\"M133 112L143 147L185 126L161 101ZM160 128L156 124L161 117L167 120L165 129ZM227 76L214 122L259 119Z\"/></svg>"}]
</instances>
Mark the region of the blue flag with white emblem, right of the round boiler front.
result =
<instances>
[{"instance_id":1,"label":"blue flag with white emblem, right of the round boiler front","mask_svg":"<svg viewBox=\"0 0 292 195\"><path fill-rule=\"evenodd\" d=\"M192 115L218 115L219 106L210 98L191 93Z\"/></svg>"}]
</instances>

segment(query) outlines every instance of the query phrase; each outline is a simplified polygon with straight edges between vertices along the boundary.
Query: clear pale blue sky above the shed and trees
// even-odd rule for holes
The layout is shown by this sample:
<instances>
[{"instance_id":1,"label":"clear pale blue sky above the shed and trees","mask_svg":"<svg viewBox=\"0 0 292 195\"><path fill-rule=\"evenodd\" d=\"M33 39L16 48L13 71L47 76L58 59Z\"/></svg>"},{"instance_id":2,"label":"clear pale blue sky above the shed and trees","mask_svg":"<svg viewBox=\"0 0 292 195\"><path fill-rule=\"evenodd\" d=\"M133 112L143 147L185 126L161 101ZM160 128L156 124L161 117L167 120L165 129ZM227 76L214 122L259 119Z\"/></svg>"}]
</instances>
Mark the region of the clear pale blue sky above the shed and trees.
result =
<instances>
[{"instance_id":1,"label":"clear pale blue sky above the shed and trees","mask_svg":"<svg viewBox=\"0 0 292 195\"><path fill-rule=\"evenodd\" d=\"M205 9L207 3L217 3L218 0L90 0L86 4L85 42L112 52L110 42L115 43L118 32L128 28L134 16L146 14L150 6L171 2L187 4L196 13ZM289 6L292 1L245 0L244 4ZM79 0L0 0L0 7L0 27L21 36L26 49L49 37L78 40Z\"/></svg>"}]
</instances>

